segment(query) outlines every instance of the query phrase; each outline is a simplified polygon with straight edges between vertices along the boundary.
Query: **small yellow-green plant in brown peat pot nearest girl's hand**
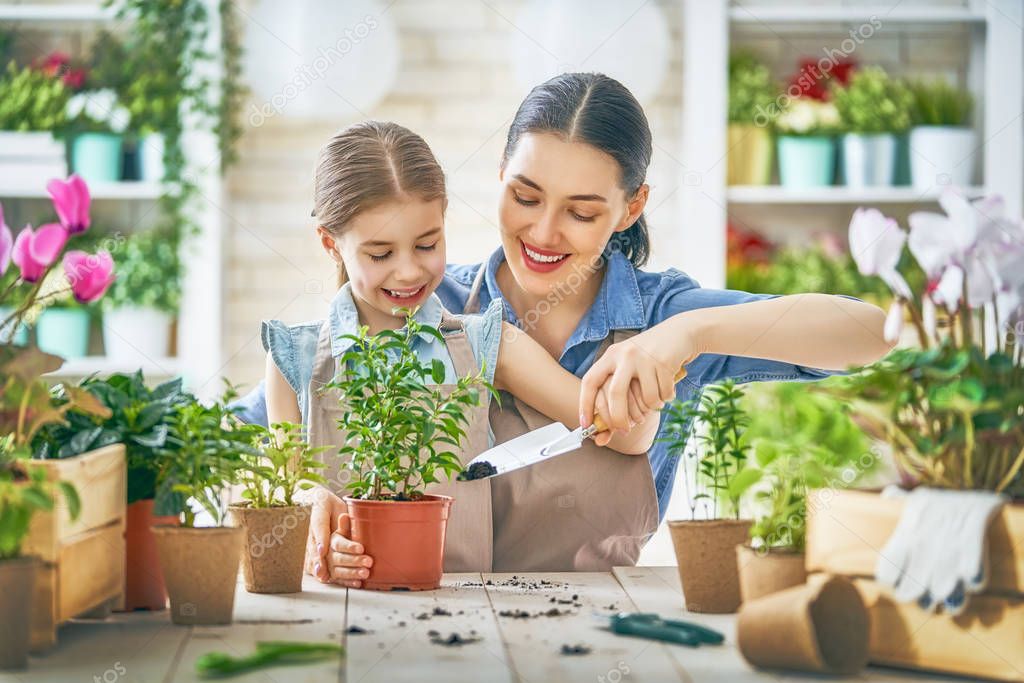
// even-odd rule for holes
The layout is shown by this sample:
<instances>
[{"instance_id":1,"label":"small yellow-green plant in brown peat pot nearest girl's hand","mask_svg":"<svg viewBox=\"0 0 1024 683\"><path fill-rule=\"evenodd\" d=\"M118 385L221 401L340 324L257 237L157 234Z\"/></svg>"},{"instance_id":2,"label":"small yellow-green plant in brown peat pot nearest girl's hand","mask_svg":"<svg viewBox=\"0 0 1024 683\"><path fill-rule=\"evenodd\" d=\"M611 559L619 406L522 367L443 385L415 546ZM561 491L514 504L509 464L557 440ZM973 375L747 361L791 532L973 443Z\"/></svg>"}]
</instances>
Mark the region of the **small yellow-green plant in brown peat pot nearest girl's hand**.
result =
<instances>
[{"instance_id":1,"label":"small yellow-green plant in brown peat pot nearest girl's hand","mask_svg":"<svg viewBox=\"0 0 1024 683\"><path fill-rule=\"evenodd\" d=\"M316 470L325 465L303 438L302 425L271 425L258 434L256 452L243 455L243 502L228 508L236 526L245 529L242 570L250 593L298 593L309 532L308 504L295 495L327 481Z\"/></svg>"}]
</instances>

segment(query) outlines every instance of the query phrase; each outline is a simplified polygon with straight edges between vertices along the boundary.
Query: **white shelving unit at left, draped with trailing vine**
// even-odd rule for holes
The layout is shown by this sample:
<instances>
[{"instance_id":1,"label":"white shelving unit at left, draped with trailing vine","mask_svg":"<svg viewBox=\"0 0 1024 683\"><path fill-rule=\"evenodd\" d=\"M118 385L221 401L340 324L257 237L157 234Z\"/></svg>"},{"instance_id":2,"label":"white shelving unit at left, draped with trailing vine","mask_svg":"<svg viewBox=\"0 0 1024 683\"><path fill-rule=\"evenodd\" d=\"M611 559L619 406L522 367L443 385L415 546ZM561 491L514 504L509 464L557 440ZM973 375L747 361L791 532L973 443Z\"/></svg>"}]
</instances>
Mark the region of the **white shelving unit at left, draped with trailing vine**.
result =
<instances>
[{"instance_id":1,"label":"white shelving unit at left, draped with trailing vine","mask_svg":"<svg viewBox=\"0 0 1024 683\"><path fill-rule=\"evenodd\" d=\"M220 26L218 3L206 0L211 27L206 48L219 53ZM91 32L98 28L121 28L114 11L100 3L46 4L39 2L0 3L0 22L33 31ZM207 74L210 76L211 74ZM219 74L212 74L216 77ZM184 280L182 282L181 308L177 319L177 355L151 358L143 362L142 372L155 381L181 375L185 386L200 397L216 395L220 390L222 372L223 335L221 306L221 272L223 250L221 247L223 188L219 174L219 150L213 133L199 132L195 122L185 122L183 147L188 168L186 173L195 178L200 199L194 205L195 217L200 225L198 236L182 246ZM126 216L137 215L138 207L158 200L163 187L154 182L90 183L95 202L120 204ZM25 178L0 184L0 201L39 200L48 197L45 180ZM129 220L130 219L126 219ZM115 255L115 271L117 256ZM98 373L134 372L137 361L126 361L108 356L87 356L68 360L53 379L77 380Z\"/></svg>"}]
</instances>

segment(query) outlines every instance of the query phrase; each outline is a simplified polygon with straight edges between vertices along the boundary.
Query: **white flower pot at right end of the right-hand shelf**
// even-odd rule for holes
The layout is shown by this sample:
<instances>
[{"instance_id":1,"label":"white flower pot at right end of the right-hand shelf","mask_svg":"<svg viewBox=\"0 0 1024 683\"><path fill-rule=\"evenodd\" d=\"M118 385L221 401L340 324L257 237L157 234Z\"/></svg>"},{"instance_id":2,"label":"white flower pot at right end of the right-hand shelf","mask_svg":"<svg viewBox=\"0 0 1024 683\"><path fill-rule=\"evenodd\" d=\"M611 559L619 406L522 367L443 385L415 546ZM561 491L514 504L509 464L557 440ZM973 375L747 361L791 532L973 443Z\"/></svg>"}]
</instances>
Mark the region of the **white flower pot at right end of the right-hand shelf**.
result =
<instances>
[{"instance_id":1,"label":"white flower pot at right end of the right-hand shelf","mask_svg":"<svg viewBox=\"0 0 1024 683\"><path fill-rule=\"evenodd\" d=\"M976 139L974 130L963 126L918 126L911 130L910 182L914 188L971 185L977 164Z\"/></svg>"}]
</instances>

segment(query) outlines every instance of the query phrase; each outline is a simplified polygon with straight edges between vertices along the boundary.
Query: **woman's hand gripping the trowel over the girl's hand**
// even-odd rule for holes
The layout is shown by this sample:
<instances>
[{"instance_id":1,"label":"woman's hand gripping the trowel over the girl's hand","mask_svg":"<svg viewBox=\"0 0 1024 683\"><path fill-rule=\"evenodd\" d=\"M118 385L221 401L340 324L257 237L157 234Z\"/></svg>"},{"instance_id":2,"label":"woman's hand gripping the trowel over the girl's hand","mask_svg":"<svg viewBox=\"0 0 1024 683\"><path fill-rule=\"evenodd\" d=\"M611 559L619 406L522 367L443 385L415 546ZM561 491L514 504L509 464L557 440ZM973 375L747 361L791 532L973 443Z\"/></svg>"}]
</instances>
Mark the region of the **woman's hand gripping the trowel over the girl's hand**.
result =
<instances>
[{"instance_id":1,"label":"woman's hand gripping the trowel over the girl's hand","mask_svg":"<svg viewBox=\"0 0 1024 683\"><path fill-rule=\"evenodd\" d=\"M637 413L659 411L676 395L676 374L699 354L694 336L685 329L657 325L612 344L583 377L580 420L586 427L595 411L611 430L629 431ZM605 393L607 414L598 403Z\"/></svg>"}]
</instances>

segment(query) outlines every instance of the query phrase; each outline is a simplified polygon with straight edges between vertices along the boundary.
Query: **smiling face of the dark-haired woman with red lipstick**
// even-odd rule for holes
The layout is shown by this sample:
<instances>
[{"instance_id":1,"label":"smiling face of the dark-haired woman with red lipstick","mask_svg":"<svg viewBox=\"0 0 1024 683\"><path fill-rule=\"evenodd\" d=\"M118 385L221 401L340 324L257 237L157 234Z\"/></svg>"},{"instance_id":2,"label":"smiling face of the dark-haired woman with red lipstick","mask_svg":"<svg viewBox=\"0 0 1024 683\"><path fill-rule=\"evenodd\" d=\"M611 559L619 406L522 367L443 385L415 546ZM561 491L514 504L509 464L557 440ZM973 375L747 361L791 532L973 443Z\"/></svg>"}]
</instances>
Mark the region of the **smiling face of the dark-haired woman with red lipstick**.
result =
<instances>
[{"instance_id":1,"label":"smiling face of the dark-haired woman with red lipstick","mask_svg":"<svg viewBox=\"0 0 1024 683\"><path fill-rule=\"evenodd\" d=\"M643 210L647 186L635 198L622 188L611 156L550 133L519 138L501 172L502 246L519 287L545 296L572 272L600 266L613 232Z\"/></svg>"}]
</instances>

